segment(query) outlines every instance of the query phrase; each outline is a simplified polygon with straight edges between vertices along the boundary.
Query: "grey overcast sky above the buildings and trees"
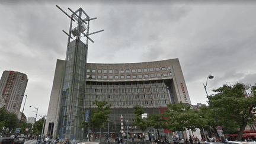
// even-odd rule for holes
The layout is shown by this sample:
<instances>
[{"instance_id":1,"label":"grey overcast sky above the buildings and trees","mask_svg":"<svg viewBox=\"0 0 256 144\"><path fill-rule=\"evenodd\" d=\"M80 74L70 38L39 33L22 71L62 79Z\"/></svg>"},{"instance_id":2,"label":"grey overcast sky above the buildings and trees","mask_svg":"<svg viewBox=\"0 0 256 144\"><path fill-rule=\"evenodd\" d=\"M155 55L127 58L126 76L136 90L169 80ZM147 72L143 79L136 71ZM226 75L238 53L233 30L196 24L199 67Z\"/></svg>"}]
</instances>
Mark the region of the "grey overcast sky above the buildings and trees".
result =
<instances>
[{"instance_id":1,"label":"grey overcast sky above the buildings and trees","mask_svg":"<svg viewBox=\"0 0 256 144\"><path fill-rule=\"evenodd\" d=\"M177 1L0 2L0 74L27 74L24 113L47 115L57 59L65 59L68 8L90 18L89 63L137 63L178 58L192 104L223 84L256 82L256 3ZM24 98L25 100L25 98ZM23 100L23 105L24 105ZM21 111L23 109L21 105ZM37 120L40 117L37 117Z\"/></svg>"}]
</instances>

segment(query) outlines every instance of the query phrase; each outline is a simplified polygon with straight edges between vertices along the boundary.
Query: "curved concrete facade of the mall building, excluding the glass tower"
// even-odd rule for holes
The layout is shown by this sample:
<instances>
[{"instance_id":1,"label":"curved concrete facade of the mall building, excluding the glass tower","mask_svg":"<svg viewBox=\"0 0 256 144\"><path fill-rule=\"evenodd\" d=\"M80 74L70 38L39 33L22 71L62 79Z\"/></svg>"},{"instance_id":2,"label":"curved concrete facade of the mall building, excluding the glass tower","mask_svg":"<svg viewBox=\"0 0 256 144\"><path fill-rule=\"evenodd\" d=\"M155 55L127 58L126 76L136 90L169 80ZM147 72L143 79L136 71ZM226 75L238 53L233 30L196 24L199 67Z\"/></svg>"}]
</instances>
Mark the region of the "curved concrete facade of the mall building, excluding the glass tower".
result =
<instances>
[{"instance_id":1,"label":"curved concrete facade of the mall building, excluding the glass tower","mask_svg":"<svg viewBox=\"0 0 256 144\"><path fill-rule=\"evenodd\" d=\"M53 89L50 97L45 134L53 127L54 136L57 133L59 120L60 99L63 84L65 60L57 60ZM132 125L135 119L133 106L142 105L147 114L164 113L167 104L182 101L191 104L183 72L178 59L161 60L143 63L87 63L85 71L85 95L83 110L95 107L95 100L106 100L111 104L110 133L119 133L121 129L120 116L126 121L124 132L137 133L139 130ZM79 113L76 113L79 114ZM80 114L81 115L81 114ZM53 125L52 125L53 124ZM107 132L107 130L105 130ZM152 132L149 129L149 132ZM82 138L87 137L88 130L84 130ZM178 134L177 134L178 135ZM183 135L180 132L180 135Z\"/></svg>"}]
</instances>

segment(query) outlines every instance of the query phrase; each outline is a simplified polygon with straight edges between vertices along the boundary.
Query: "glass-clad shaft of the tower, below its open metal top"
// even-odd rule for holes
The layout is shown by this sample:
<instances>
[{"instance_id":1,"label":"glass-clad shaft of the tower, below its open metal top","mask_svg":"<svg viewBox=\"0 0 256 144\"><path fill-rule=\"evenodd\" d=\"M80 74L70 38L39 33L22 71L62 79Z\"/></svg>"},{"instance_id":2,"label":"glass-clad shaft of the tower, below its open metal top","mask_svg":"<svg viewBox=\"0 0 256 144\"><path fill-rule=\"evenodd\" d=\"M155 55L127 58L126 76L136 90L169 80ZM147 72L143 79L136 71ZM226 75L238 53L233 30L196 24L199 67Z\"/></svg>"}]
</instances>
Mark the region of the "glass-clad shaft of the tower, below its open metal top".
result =
<instances>
[{"instance_id":1,"label":"glass-clad shaft of the tower, below its open metal top","mask_svg":"<svg viewBox=\"0 0 256 144\"><path fill-rule=\"evenodd\" d=\"M82 120L86 57L86 44L77 39L69 43L57 128L61 139L80 139L82 136L79 121Z\"/></svg>"}]
</instances>

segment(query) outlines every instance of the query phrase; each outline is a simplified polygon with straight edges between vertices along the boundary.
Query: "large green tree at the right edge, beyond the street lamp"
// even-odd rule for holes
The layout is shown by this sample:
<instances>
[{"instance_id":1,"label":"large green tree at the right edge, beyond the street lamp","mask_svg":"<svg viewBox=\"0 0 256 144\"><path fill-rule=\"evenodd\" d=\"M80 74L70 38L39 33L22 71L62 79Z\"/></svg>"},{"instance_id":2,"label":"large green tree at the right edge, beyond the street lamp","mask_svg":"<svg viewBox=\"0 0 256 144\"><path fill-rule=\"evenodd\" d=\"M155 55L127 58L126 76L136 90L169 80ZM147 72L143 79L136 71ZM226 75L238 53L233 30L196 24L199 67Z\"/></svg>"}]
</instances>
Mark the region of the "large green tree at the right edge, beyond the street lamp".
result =
<instances>
[{"instance_id":1,"label":"large green tree at the right edge, beyond the street lamp","mask_svg":"<svg viewBox=\"0 0 256 144\"><path fill-rule=\"evenodd\" d=\"M247 97L245 85L239 83L233 87L223 85L213 91L217 94L209 99L220 126L231 130L239 128L238 140L241 141L247 124L256 120L256 84L251 87L252 97Z\"/></svg>"}]
</instances>

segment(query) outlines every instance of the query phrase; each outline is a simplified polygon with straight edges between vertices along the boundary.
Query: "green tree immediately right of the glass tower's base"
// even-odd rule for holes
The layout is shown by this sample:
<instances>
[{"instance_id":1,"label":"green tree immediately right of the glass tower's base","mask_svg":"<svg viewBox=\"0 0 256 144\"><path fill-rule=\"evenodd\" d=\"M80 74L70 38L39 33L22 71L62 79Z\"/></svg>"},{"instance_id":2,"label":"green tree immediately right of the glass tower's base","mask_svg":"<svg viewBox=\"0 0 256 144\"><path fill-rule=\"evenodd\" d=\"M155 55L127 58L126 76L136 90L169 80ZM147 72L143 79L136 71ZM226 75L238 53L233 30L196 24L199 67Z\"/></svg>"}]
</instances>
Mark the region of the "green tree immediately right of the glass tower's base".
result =
<instances>
[{"instance_id":1,"label":"green tree immediately right of the glass tower's base","mask_svg":"<svg viewBox=\"0 0 256 144\"><path fill-rule=\"evenodd\" d=\"M112 113L110 109L111 105L107 105L107 101L97 101L95 100L94 103L97 107L92 108L91 114L89 116L89 122L85 123L85 121L80 121L79 125L80 127L86 128L90 127L92 129L93 133L93 141L94 141L94 135L95 135L95 130L100 129L100 134L101 134L101 129L105 129L104 123L109 122L109 114ZM82 111L82 114L85 114L85 111ZM101 135L100 135L100 140L101 140Z\"/></svg>"}]
</instances>

